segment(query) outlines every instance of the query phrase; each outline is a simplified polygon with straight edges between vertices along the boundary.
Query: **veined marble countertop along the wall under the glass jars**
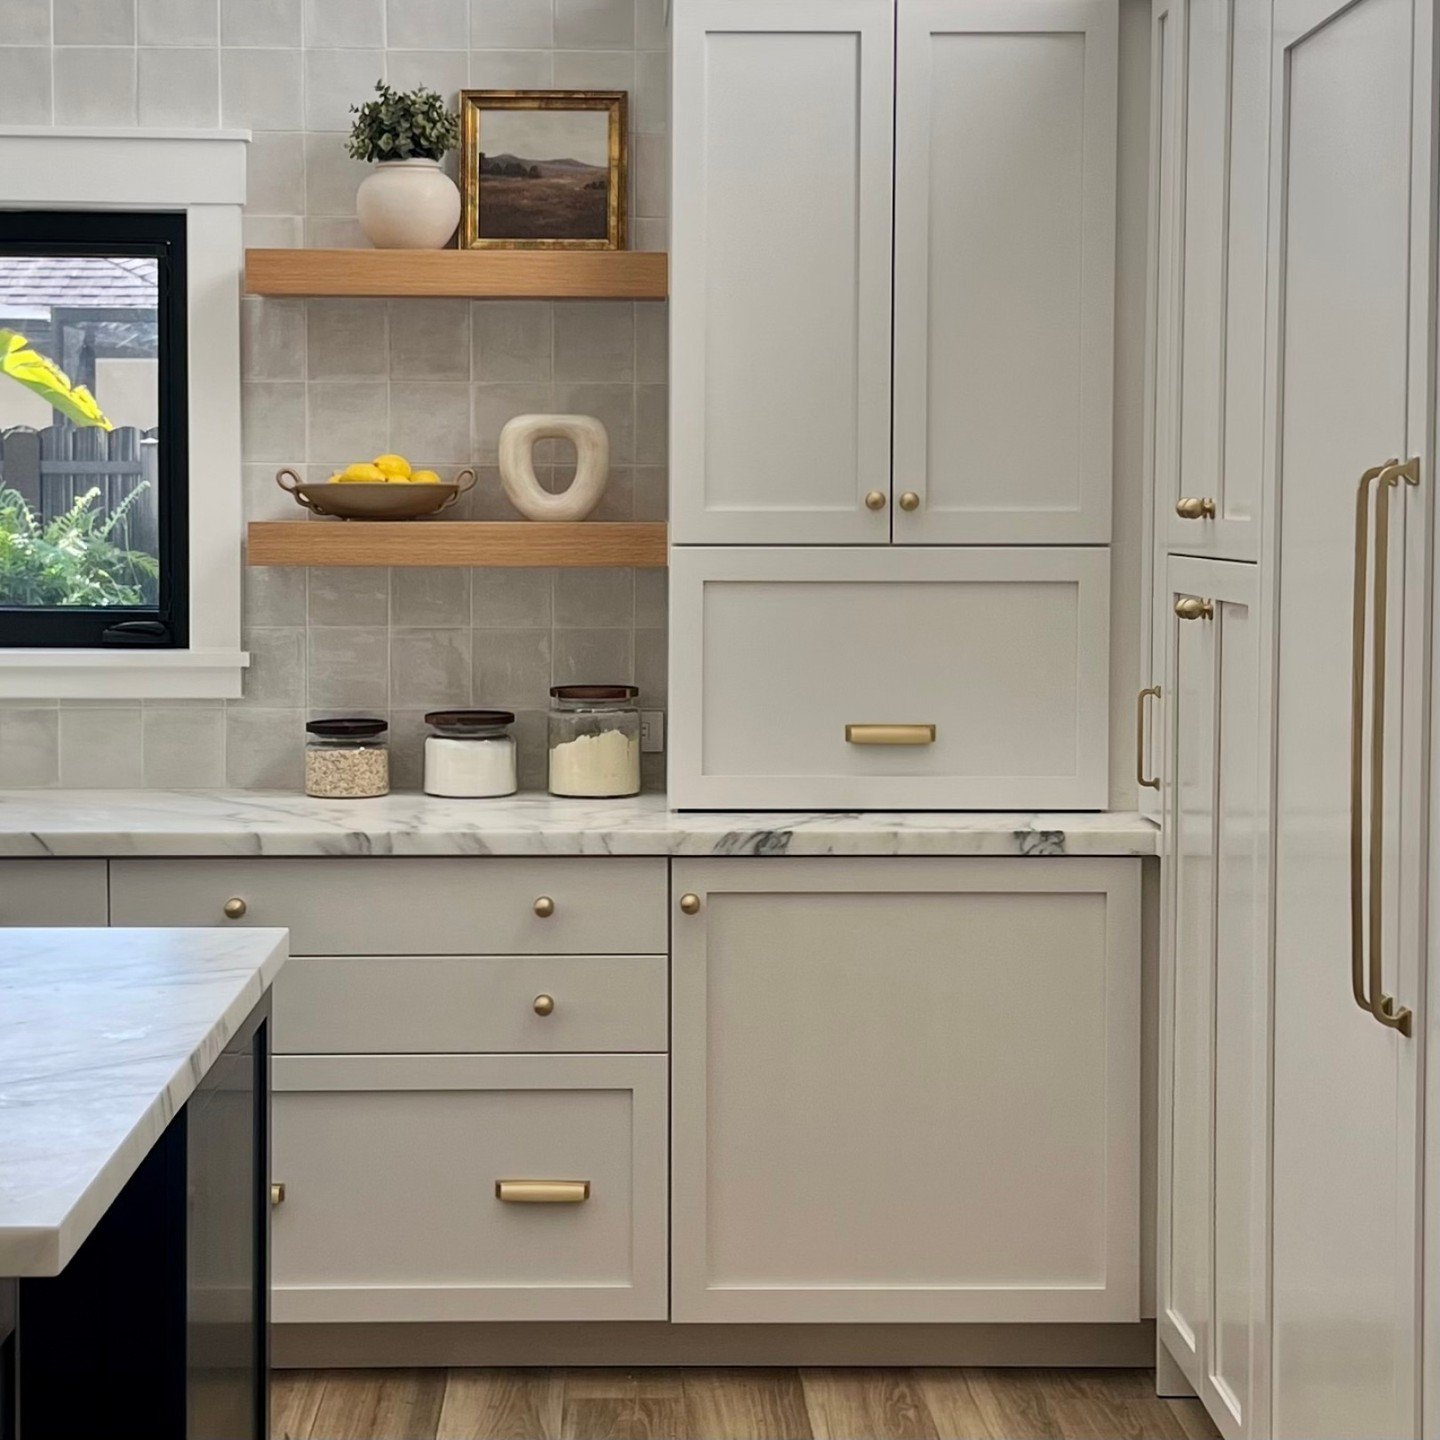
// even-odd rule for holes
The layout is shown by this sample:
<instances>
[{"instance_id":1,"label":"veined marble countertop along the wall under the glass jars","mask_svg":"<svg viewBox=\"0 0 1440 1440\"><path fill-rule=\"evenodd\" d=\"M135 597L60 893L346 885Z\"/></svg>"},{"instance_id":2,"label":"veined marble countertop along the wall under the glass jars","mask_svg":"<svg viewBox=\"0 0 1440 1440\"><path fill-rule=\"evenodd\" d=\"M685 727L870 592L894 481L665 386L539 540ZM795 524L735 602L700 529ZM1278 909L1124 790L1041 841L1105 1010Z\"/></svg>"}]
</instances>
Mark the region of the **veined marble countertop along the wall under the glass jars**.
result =
<instances>
[{"instance_id":1,"label":"veined marble countertop along the wall under the glass jars","mask_svg":"<svg viewBox=\"0 0 1440 1440\"><path fill-rule=\"evenodd\" d=\"M1153 855L1135 812L681 814L664 795L0 792L0 855Z\"/></svg>"}]
</instances>

